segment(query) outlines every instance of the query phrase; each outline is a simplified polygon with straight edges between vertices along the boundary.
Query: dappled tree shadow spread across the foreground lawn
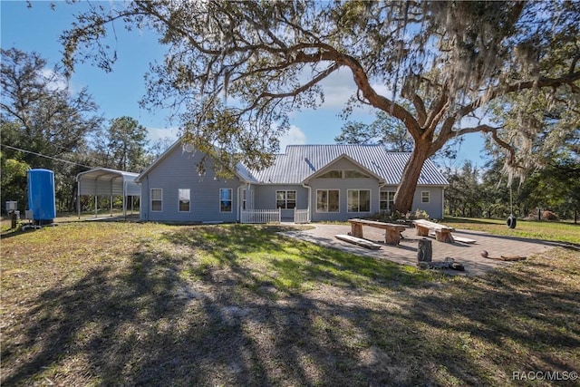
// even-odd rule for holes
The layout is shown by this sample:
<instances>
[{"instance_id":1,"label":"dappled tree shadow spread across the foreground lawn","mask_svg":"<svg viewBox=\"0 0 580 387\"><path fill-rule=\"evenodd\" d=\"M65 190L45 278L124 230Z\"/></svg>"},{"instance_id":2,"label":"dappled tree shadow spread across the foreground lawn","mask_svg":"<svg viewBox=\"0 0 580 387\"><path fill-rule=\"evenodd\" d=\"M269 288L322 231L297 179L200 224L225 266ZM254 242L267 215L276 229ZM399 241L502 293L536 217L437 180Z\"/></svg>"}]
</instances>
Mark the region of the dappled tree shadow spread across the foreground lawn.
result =
<instances>
[{"instance_id":1,"label":"dappled tree shadow spread across the foreground lawn","mask_svg":"<svg viewBox=\"0 0 580 387\"><path fill-rule=\"evenodd\" d=\"M490 372L505 371L503 359L483 362L465 345L524 341L506 312L537 321L527 334L556 351L580 344L576 325L549 317L577 307L556 282L526 294L524 273L500 272L433 287L430 273L274 231L182 227L162 238L177 249L141 242L126 266L49 289L22 316L23 341L3 344L3 383L498 384ZM198 254L217 264L197 270Z\"/></svg>"}]
</instances>

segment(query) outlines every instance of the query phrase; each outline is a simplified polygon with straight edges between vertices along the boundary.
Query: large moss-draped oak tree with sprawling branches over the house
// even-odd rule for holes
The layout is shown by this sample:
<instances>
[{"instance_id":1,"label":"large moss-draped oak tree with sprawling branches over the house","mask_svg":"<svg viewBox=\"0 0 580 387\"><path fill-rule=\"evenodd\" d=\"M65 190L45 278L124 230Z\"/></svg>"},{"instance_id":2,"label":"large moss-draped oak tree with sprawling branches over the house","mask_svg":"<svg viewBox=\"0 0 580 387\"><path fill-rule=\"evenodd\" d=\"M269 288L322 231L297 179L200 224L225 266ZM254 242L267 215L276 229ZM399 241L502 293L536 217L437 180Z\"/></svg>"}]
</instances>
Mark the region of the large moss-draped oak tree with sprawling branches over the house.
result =
<instances>
[{"instance_id":1,"label":"large moss-draped oak tree with sprawling branches over the house","mask_svg":"<svg viewBox=\"0 0 580 387\"><path fill-rule=\"evenodd\" d=\"M151 66L144 102L181 106L198 149L249 167L273 160L288 114L324 102L325 78L349 72L345 112L370 105L414 140L399 211L411 209L424 161L465 133L488 133L517 164L498 127L466 120L488 102L527 90L579 92L578 2L133 1L79 15L63 34L69 70L90 58L111 70L117 53L103 37L119 23L152 28L169 47Z\"/></svg>"}]
</instances>

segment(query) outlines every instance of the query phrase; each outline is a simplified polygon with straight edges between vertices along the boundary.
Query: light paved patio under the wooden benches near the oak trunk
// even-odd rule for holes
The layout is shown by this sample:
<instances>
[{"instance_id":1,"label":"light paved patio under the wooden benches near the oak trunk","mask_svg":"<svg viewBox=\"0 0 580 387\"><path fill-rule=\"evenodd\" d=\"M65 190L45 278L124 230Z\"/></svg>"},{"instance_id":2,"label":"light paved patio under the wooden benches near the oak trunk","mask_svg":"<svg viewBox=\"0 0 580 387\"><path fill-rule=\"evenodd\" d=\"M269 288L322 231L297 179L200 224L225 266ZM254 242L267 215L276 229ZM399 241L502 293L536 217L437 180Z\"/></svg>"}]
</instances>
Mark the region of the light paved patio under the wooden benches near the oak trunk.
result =
<instances>
[{"instance_id":1,"label":"light paved patio under the wooden benches near the oak trunk","mask_svg":"<svg viewBox=\"0 0 580 387\"><path fill-rule=\"evenodd\" d=\"M313 224L313 229L290 231L284 234L288 237L295 237L306 240L324 247L334 247L359 256L374 256L388 259L402 265L417 265L418 240L422 237L416 235L415 228L407 228L402 233L403 239L399 246L390 246L384 243L384 230L374 227L363 227L364 238L381 245L379 250L370 250L365 247L355 246L348 242L343 242L335 235L348 234L350 226ZM511 265L511 262L483 258L481 251L488 251L490 257L500 256L530 256L536 253L545 252L547 249L560 246L555 242L548 242L536 239L526 239L518 237L504 237L491 235L480 231L458 230L453 233L457 237L467 237L475 239L473 245L455 242L452 244L437 242L435 238L430 238L433 247L433 261L443 261L446 257L451 257L465 266L464 272L456 270L444 270L446 273L462 276L480 276L498 266Z\"/></svg>"}]
</instances>

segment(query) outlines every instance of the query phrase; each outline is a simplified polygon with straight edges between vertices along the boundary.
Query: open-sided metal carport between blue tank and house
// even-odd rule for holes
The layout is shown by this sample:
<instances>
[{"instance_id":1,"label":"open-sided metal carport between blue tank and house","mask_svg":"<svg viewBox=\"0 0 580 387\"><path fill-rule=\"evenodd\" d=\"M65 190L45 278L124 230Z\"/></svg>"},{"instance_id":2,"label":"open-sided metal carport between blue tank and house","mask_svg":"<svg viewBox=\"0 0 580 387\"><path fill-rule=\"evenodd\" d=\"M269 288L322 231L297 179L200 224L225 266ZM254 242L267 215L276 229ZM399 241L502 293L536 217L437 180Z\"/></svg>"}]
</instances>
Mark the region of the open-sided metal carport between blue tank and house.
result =
<instances>
[{"instance_id":1,"label":"open-sided metal carport between blue tank and house","mask_svg":"<svg viewBox=\"0 0 580 387\"><path fill-rule=\"evenodd\" d=\"M76 175L77 182L77 210L81 218L81 196L94 196L94 216L97 218L99 197L109 197L111 199L111 217L112 217L112 198L122 196L123 198L123 216L127 218L127 197L141 196L140 185L135 182L139 173L125 172L116 169L96 168L81 172ZM131 211L132 211L131 200Z\"/></svg>"}]
</instances>

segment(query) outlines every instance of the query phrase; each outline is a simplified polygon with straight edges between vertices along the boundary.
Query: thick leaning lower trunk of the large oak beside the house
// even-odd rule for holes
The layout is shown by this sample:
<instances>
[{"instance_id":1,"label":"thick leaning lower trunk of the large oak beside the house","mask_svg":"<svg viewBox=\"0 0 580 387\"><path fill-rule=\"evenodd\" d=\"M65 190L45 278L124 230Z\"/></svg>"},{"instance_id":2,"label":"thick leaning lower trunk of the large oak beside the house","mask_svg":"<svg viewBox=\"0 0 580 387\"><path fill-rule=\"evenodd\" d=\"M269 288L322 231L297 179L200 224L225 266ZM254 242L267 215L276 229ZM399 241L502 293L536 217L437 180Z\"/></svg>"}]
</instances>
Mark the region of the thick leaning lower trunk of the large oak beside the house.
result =
<instances>
[{"instance_id":1,"label":"thick leaning lower trunk of the large oak beside the house","mask_svg":"<svg viewBox=\"0 0 580 387\"><path fill-rule=\"evenodd\" d=\"M394 209L401 214L405 214L412 210L413 197L417 189L417 182L419 181L420 171L425 164L425 160L429 158L430 142L423 144L415 142L415 149L411 153L411 158L407 162L405 169L402 172L401 183L395 193Z\"/></svg>"}]
</instances>

